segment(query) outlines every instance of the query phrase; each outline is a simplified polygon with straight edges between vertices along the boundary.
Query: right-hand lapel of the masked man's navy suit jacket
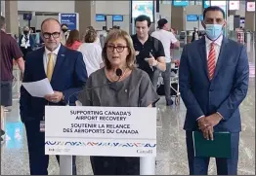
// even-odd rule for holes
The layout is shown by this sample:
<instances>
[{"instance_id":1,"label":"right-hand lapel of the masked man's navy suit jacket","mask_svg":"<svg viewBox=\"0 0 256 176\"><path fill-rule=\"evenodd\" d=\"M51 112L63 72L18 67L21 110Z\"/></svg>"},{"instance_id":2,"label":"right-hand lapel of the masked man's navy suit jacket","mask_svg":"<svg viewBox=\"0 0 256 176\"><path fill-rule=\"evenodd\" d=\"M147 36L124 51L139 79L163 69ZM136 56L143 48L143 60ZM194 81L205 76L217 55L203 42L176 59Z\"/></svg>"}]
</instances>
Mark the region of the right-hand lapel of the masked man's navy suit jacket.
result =
<instances>
[{"instance_id":1,"label":"right-hand lapel of the masked man's navy suit jacket","mask_svg":"<svg viewBox=\"0 0 256 176\"><path fill-rule=\"evenodd\" d=\"M226 55L228 53L228 49L227 49L227 44L228 44L228 39L226 39L225 37L223 37L223 41L222 41L222 46L221 46L221 50L220 50L220 54L219 54L219 57L218 57L218 61L217 61L217 64L216 64L216 68L215 68L215 72L214 72L214 77L215 78L221 67L223 66L223 64L225 63L225 58L226 58Z\"/></svg>"}]
</instances>

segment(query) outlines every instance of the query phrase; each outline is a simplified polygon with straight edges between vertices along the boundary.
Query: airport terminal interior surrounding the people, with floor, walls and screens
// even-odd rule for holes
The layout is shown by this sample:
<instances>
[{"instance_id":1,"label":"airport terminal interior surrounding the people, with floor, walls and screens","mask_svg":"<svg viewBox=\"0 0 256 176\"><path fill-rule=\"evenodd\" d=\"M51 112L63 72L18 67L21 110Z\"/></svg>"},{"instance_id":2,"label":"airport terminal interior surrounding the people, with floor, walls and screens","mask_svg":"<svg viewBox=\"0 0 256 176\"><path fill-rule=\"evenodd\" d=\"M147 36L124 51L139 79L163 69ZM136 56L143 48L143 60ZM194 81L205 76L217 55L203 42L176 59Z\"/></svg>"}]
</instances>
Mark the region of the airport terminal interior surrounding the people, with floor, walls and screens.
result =
<instances>
[{"instance_id":1,"label":"airport terminal interior surrounding the people, with floor, walls and screens","mask_svg":"<svg viewBox=\"0 0 256 176\"><path fill-rule=\"evenodd\" d=\"M151 11L140 12L134 9L136 3L138 6L149 6ZM7 32L12 36L21 35L23 26L29 26L34 35L38 36L41 22L45 18L56 18L61 23L70 22L70 26L78 29L81 34L86 27L93 26L101 39L106 37L105 33L114 26L134 34L134 23L131 19L138 15L148 15L152 21L166 18L181 43L180 49L173 51L172 55L173 59L179 60L184 45L192 40L193 29L198 28L203 32L202 12L210 5L224 9L228 23L225 35L244 45L247 50L249 89L240 105L242 129L237 173L238 175L255 175L255 1L1 1L1 16L6 18ZM64 16L66 14L73 15L75 18L66 18ZM155 29L156 22L153 22L151 30ZM39 43L40 40L38 40L38 46L40 46ZM172 72L174 83L179 79L176 73L174 69ZM1 143L1 175L29 175L26 132L20 117L20 74L18 67L15 66L13 106L6 107L5 119L2 121L6 134ZM156 103L156 175L189 174L186 133L183 129L186 107L179 95L174 95L172 98L176 103L171 106L166 106L164 96L161 96ZM89 157L76 159L78 175L93 174ZM208 170L210 175L216 175L214 158L211 158ZM49 175L60 174L59 165L54 156L50 157L48 171Z\"/></svg>"}]
</instances>

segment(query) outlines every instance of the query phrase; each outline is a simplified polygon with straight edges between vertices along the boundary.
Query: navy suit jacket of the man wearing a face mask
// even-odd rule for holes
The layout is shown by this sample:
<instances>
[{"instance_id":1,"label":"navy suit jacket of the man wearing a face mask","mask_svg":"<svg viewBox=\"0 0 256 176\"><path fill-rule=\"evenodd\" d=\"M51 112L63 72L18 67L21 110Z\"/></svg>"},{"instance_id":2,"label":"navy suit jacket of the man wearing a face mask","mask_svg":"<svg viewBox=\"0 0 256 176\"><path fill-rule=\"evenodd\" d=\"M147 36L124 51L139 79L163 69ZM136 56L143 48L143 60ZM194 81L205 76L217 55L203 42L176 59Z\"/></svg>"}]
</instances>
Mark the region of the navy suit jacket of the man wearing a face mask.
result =
<instances>
[{"instance_id":1,"label":"navy suit jacket of the man wearing a face mask","mask_svg":"<svg viewBox=\"0 0 256 176\"><path fill-rule=\"evenodd\" d=\"M186 45L181 56L180 92L187 107L184 129L197 130L197 118L219 112L224 120L214 130L239 132L238 106L247 94L249 80L246 49L224 37L211 81L206 56L205 38Z\"/></svg>"}]
</instances>

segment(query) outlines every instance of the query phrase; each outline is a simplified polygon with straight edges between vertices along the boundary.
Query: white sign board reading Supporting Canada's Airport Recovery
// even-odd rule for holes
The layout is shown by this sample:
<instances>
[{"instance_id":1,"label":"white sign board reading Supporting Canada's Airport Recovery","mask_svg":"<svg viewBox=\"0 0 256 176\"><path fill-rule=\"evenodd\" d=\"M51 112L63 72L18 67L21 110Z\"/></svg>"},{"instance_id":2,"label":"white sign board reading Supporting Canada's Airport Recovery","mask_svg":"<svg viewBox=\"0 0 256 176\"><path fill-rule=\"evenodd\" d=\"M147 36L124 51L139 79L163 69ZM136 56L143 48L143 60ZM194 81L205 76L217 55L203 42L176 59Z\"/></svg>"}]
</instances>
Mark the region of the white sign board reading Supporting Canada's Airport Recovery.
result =
<instances>
[{"instance_id":1,"label":"white sign board reading Supporting Canada's Airport Recovery","mask_svg":"<svg viewBox=\"0 0 256 176\"><path fill-rule=\"evenodd\" d=\"M47 106L45 154L156 157L156 109Z\"/></svg>"}]
</instances>

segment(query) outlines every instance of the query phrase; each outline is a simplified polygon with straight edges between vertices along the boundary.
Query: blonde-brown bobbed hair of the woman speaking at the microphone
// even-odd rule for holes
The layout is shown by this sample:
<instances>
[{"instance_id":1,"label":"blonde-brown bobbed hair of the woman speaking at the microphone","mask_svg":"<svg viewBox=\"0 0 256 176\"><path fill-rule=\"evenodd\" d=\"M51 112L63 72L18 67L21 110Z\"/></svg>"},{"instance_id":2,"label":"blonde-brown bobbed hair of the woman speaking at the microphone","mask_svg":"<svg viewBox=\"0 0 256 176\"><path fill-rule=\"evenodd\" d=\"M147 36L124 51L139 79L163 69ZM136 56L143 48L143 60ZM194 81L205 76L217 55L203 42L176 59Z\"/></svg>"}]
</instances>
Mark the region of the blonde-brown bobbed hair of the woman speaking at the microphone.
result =
<instances>
[{"instance_id":1,"label":"blonde-brown bobbed hair of the woman speaking at the microphone","mask_svg":"<svg viewBox=\"0 0 256 176\"><path fill-rule=\"evenodd\" d=\"M135 68L135 60L136 60L136 54L135 54L135 50L133 47L133 41L132 38L130 37L130 35L121 29L113 29L109 32L109 34L107 35L106 41L105 41L105 45L103 48L103 59L106 65L106 68L109 70L111 69L111 63L109 62L108 58L107 58L107 44L109 42L113 42L117 39L124 39L127 43L127 49L129 50L129 54L126 57L126 64L127 67L130 69L134 69Z\"/></svg>"}]
</instances>

